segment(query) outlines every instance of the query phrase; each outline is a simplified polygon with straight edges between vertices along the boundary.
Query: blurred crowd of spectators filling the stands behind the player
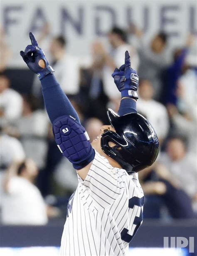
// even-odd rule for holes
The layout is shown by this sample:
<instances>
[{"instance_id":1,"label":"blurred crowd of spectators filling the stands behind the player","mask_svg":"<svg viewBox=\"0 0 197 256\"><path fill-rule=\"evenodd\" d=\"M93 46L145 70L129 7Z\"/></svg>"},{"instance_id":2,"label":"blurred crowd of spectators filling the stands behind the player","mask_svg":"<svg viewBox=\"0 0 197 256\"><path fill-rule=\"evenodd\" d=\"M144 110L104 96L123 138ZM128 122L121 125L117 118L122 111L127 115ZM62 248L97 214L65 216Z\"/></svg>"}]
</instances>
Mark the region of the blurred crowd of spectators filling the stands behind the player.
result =
<instances>
[{"instance_id":1,"label":"blurred crowd of spectators filling the stands behind the player","mask_svg":"<svg viewBox=\"0 0 197 256\"><path fill-rule=\"evenodd\" d=\"M3 32L1 35L1 222L44 225L50 218L66 217L68 198L78 182L76 171L54 142L37 75L28 93L14 89L7 73L12 53ZM197 58L196 62L191 58L195 38L188 35L185 45L170 55L164 32L155 33L145 44L143 31L133 24L126 29L112 28L107 39L108 45L99 38L92 42L91 58L86 59L67 53L69 38L53 36L48 24L38 35L40 47L91 140L108 123L106 109L118 110L121 98L111 73L124 63L125 51L130 51L132 68L140 78L137 110L153 125L160 141L157 161L139 173L145 193L144 217L195 218Z\"/></svg>"}]
</instances>

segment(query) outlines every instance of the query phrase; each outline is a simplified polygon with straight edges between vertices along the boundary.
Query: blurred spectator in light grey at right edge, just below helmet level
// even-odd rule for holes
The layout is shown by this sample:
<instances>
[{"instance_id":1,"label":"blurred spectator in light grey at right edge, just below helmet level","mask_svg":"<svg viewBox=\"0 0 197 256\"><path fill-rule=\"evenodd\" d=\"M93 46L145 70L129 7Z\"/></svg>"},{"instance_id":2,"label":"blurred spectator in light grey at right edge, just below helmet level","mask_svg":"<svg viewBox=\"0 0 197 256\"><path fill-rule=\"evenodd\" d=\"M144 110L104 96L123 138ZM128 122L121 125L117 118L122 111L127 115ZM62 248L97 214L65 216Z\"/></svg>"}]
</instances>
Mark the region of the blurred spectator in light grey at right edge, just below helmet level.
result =
<instances>
[{"instance_id":1,"label":"blurred spectator in light grey at right edge, just below helmet level","mask_svg":"<svg viewBox=\"0 0 197 256\"><path fill-rule=\"evenodd\" d=\"M197 199L196 156L187 151L184 138L180 136L169 138L167 152L161 153L159 161L168 168L171 177L195 203Z\"/></svg>"}]
</instances>

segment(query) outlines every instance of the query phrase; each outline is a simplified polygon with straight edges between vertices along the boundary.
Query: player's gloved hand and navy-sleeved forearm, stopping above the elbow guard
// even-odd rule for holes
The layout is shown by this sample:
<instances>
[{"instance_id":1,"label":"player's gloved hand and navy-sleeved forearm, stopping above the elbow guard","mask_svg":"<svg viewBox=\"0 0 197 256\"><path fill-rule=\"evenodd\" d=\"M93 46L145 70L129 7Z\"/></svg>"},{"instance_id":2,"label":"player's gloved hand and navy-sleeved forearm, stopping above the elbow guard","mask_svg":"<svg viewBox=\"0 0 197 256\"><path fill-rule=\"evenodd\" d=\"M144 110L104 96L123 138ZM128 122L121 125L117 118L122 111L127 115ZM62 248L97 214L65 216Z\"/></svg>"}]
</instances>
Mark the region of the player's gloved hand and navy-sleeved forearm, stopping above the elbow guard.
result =
<instances>
[{"instance_id":1,"label":"player's gloved hand and navy-sleeved forearm, stopping above the elbow guard","mask_svg":"<svg viewBox=\"0 0 197 256\"><path fill-rule=\"evenodd\" d=\"M44 103L51 123L62 115L71 115L80 123L79 116L55 79L55 71L49 65L44 51L39 48L31 32L30 39L32 44L27 45L25 52L20 51L20 55L41 81Z\"/></svg>"}]
</instances>

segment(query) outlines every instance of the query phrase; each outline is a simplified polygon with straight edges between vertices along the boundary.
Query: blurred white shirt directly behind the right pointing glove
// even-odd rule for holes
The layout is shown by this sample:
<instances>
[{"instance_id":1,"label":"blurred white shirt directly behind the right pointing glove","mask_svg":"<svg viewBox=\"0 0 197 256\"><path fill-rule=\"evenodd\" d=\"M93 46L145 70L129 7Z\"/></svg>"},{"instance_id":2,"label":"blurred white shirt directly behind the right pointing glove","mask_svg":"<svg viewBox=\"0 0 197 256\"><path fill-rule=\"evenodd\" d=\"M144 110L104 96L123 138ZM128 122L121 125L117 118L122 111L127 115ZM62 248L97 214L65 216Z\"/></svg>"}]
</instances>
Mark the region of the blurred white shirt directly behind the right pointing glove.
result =
<instances>
[{"instance_id":1,"label":"blurred white shirt directly behind the right pointing glove","mask_svg":"<svg viewBox=\"0 0 197 256\"><path fill-rule=\"evenodd\" d=\"M138 53L135 48L128 44L121 45L113 51L113 56L111 57L113 58L116 67L120 68L120 66L125 63L126 50L128 50L131 55L131 67L137 71L139 65ZM114 86L113 78L111 76L112 73L113 70L108 66L103 68L103 89L109 98L119 98L120 92L116 86Z\"/></svg>"}]
</instances>

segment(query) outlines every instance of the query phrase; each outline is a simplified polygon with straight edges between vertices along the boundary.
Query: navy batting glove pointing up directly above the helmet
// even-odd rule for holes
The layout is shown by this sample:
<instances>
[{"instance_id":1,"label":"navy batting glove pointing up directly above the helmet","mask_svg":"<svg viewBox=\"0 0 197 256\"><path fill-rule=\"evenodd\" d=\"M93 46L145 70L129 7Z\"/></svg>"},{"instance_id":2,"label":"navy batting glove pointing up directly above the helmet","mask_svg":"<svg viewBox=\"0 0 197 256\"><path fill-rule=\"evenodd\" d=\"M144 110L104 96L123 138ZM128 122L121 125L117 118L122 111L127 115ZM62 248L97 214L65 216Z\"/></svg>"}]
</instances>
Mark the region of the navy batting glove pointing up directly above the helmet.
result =
<instances>
[{"instance_id":1,"label":"navy batting glove pointing up directly above the helmet","mask_svg":"<svg viewBox=\"0 0 197 256\"><path fill-rule=\"evenodd\" d=\"M138 75L136 71L131 68L131 58L128 51L125 52L125 64L119 69L115 68L112 77L122 97L138 99Z\"/></svg>"}]
</instances>

